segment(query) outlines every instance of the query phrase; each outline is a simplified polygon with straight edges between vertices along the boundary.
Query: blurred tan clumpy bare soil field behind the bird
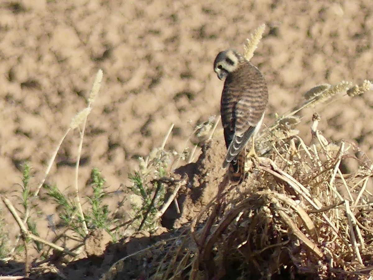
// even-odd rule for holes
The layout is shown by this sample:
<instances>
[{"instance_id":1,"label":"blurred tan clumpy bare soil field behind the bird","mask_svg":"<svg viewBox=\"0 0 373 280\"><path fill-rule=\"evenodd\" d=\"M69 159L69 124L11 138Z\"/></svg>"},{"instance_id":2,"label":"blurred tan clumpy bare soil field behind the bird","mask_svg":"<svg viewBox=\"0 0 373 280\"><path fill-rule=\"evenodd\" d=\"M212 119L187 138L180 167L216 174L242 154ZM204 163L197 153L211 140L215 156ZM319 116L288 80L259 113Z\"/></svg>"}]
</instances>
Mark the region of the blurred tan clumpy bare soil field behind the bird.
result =
<instances>
[{"instance_id":1,"label":"blurred tan clumpy bare soil field behind the bird","mask_svg":"<svg viewBox=\"0 0 373 280\"><path fill-rule=\"evenodd\" d=\"M128 184L138 156L160 146L172 123L166 149L181 152L195 125L219 113L223 83L213 72L216 54L242 51L263 23L251 62L269 87L264 124L302 103L314 85L373 80L371 0L0 0L0 191L20 189L24 163L31 164L37 186L100 68L104 78L82 151L82 196L93 167L108 191ZM309 143L317 112L327 139L356 143L372 158L372 107L370 93L307 109L300 135ZM77 130L68 134L48 183L62 190L73 185L78 141ZM53 205L38 207L45 215L54 212ZM40 223L47 228L42 216ZM12 236L18 232L11 227Z\"/></svg>"}]
</instances>

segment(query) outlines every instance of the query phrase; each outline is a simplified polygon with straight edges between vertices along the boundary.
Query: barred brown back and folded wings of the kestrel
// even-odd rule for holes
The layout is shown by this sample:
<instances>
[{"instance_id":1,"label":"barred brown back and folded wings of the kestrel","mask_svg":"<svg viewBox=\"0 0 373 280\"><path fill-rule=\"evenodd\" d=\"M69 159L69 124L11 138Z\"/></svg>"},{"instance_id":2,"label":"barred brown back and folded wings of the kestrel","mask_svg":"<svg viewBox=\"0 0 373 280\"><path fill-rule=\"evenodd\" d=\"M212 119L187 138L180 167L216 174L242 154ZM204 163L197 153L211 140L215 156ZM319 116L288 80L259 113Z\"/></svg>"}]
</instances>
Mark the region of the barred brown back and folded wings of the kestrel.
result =
<instances>
[{"instance_id":1,"label":"barred brown back and folded wings of the kestrel","mask_svg":"<svg viewBox=\"0 0 373 280\"><path fill-rule=\"evenodd\" d=\"M268 103L266 82L260 71L245 63L225 81L221 115L227 153L223 168L235 162L250 137L257 132Z\"/></svg>"}]
</instances>

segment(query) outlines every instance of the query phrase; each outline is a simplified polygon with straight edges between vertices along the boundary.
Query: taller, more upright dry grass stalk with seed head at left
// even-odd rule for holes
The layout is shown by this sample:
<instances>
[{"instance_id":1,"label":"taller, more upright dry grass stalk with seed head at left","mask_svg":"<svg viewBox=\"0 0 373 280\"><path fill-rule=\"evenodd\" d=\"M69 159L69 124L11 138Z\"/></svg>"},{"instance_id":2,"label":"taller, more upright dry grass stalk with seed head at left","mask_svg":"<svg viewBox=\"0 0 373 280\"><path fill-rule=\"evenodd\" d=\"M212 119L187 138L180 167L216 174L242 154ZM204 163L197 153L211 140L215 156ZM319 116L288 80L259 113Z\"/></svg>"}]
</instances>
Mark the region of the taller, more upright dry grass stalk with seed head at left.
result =
<instances>
[{"instance_id":1,"label":"taller, more upright dry grass stalk with seed head at left","mask_svg":"<svg viewBox=\"0 0 373 280\"><path fill-rule=\"evenodd\" d=\"M99 69L97 71L96 78L94 80L94 83L93 83L93 86L90 92L90 96L88 97L87 108L89 108L88 109L89 111L92 108L91 106L92 103L97 97L98 91L100 90L102 77L103 77L103 72L101 69ZM80 158L82 154L83 137L84 137L85 125L87 124L88 114L89 112L85 116L83 123L82 123L82 130L80 131L80 141L79 141L79 146L78 146L78 155L76 156L76 164L75 164L75 199L78 204L79 214L81 215L82 220L83 220L83 229L84 229L85 234L88 234L88 228L87 228L87 223L85 222L84 213L83 213L83 209L82 209L82 205L81 205L80 197L79 197L78 177L79 177L79 162L80 162Z\"/></svg>"}]
</instances>

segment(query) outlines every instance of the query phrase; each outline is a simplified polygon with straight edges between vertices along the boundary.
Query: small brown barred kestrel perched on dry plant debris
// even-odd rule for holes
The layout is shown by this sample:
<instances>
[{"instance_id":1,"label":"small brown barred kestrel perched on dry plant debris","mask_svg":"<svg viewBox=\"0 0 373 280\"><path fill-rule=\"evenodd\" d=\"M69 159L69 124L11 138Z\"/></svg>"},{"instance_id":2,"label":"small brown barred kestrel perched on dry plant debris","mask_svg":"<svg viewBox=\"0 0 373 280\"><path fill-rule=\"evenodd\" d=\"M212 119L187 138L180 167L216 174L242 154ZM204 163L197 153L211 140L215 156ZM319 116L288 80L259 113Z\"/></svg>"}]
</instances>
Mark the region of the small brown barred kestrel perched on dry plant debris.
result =
<instances>
[{"instance_id":1,"label":"small brown barred kestrel perched on dry plant debris","mask_svg":"<svg viewBox=\"0 0 373 280\"><path fill-rule=\"evenodd\" d=\"M227 153L223 168L229 164L232 184L239 184L245 177L246 143L260 129L268 103L268 89L263 75L235 50L218 53L214 71L224 80L220 114L224 129Z\"/></svg>"}]
</instances>

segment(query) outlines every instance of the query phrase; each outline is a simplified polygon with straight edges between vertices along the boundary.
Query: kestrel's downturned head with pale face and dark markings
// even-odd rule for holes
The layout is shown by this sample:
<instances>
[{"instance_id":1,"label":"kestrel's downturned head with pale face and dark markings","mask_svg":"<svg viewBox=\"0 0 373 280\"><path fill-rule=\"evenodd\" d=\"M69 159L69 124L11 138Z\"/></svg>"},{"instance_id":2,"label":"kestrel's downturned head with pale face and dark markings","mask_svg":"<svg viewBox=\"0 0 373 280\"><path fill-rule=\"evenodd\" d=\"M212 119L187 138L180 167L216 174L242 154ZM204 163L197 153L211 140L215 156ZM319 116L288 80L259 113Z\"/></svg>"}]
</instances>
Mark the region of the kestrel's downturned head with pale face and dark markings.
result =
<instances>
[{"instance_id":1,"label":"kestrel's downturned head with pale face and dark markings","mask_svg":"<svg viewBox=\"0 0 373 280\"><path fill-rule=\"evenodd\" d=\"M243 57L235 50L223 50L218 53L214 61L214 71L220 80L224 80L229 73L238 68Z\"/></svg>"}]
</instances>

